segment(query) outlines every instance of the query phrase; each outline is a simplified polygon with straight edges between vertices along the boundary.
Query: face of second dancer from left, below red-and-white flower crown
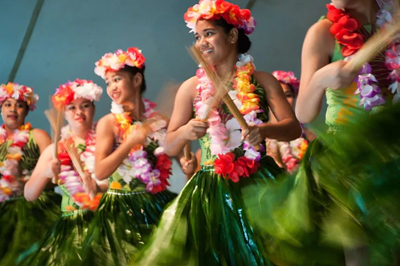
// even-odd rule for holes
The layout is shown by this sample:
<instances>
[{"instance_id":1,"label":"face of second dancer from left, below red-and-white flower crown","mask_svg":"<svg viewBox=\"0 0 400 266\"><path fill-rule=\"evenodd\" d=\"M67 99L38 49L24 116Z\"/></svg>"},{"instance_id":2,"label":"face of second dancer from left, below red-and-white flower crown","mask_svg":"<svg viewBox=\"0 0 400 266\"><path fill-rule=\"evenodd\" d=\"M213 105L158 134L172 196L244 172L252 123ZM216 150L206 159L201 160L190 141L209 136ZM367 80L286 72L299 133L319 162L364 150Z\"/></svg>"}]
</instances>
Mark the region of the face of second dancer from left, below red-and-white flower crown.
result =
<instances>
[{"instance_id":1,"label":"face of second dancer from left, below red-and-white flower crown","mask_svg":"<svg viewBox=\"0 0 400 266\"><path fill-rule=\"evenodd\" d=\"M73 100L65 107L65 119L72 128L76 129L91 128L94 113L94 104L84 98Z\"/></svg>"}]
</instances>

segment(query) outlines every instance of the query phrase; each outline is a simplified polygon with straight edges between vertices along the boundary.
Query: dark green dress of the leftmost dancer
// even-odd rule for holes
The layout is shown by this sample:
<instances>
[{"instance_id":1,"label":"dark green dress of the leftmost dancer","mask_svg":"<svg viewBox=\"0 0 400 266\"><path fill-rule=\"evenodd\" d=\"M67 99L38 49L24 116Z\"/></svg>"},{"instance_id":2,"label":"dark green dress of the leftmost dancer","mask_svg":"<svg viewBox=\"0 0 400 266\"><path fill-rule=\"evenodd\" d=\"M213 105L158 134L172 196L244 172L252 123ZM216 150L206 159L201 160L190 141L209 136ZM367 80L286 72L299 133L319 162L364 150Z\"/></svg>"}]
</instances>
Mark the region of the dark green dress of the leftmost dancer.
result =
<instances>
[{"instance_id":1,"label":"dark green dress of the leftmost dancer","mask_svg":"<svg viewBox=\"0 0 400 266\"><path fill-rule=\"evenodd\" d=\"M0 146L0 160L4 161L11 141ZM40 156L32 130L23 148L22 169L32 171ZM1 178L1 177L0 177ZM15 265L18 255L41 240L51 224L60 215L61 197L54 191L45 191L37 200L28 202L23 190L0 203L0 265Z\"/></svg>"}]
</instances>

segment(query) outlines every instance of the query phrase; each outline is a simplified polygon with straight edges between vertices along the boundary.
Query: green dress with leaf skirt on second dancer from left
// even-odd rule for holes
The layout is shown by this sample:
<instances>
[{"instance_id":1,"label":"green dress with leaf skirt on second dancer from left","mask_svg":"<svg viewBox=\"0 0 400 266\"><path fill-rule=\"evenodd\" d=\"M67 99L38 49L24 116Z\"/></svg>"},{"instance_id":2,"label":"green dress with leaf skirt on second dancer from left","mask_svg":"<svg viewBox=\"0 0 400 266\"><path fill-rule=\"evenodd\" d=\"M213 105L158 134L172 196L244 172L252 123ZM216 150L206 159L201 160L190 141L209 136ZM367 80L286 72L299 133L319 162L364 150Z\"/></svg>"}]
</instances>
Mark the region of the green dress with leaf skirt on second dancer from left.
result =
<instances>
[{"instance_id":1,"label":"green dress with leaf skirt on second dancer from left","mask_svg":"<svg viewBox=\"0 0 400 266\"><path fill-rule=\"evenodd\" d=\"M77 148L79 152L83 152L86 146L80 144ZM63 191L61 217L58 216L58 220L41 241L21 254L18 265L89 265L83 260L82 243L94 214L78 206L65 185L60 185L60 188Z\"/></svg>"}]
</instances>

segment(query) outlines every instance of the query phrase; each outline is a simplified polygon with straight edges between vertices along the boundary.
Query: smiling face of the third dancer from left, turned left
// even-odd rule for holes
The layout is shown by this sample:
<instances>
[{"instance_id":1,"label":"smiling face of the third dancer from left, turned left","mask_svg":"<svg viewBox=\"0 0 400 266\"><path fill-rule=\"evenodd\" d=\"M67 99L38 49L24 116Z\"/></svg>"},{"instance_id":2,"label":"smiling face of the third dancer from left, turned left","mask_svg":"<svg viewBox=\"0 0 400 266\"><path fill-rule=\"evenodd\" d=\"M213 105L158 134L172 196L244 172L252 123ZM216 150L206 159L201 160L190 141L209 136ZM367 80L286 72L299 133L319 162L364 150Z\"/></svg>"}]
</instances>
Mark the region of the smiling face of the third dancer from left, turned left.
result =
<instances>
[{"instance_id":1,"label":"smiling face of the third dancer from left, turned left","mask_svg":"<svg viewBox=\"0 0 400 266\"><path fill-rule=\"evenodd\" d=\"M142 82L140 73L131 75L125 71L106 73L107 94L116 104L131 102L140 92Z\"/></svg>"}]
</instances>

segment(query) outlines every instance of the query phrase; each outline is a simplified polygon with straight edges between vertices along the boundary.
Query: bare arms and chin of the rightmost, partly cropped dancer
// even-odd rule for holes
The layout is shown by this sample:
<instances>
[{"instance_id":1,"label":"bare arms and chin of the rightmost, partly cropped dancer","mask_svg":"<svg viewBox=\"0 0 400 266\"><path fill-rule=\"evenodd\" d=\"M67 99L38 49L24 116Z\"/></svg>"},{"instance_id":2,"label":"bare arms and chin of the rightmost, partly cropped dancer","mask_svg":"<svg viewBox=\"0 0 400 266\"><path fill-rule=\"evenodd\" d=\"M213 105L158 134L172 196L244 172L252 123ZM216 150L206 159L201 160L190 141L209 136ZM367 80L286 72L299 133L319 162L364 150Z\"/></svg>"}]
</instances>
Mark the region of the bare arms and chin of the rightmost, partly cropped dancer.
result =
<instances>
[{"instance_id":1,"label":"bare arms and chin of the rightmost, partly cropped dancer","mask_svg":"<svg viewBox=\"0 0 400 266\"><path fill-rule=\"evenodd\" d=\"M344 8L363 24L374 24L378 5L375 0L336 0L335 7ZM314 121L321 111L326 88L340 89L350 86L358 71L346 68L346 63L330 63L335 38L329 32L331 22L318 21L307 32L303 43L300 93L296 115L301 123Z\"/></svg>"}]
</instances>

